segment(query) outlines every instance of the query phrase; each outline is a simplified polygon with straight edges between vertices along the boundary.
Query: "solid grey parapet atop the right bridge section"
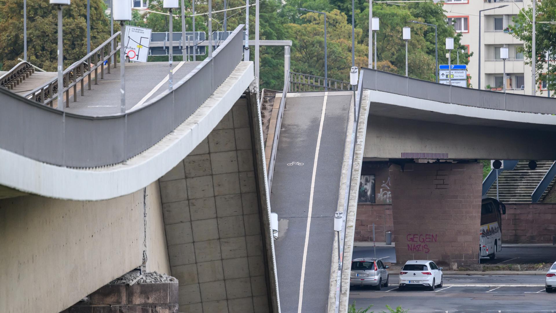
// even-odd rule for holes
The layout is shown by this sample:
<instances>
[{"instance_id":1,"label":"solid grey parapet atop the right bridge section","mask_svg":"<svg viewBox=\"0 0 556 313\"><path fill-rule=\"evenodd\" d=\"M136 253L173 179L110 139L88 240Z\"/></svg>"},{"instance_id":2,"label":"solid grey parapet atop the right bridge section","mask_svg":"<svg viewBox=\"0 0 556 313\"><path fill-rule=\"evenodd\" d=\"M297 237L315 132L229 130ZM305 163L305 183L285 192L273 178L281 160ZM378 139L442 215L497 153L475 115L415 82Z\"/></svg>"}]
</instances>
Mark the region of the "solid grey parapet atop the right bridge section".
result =
<instances>
[{"instance_id":1,"label":"solid grey parapet atop the right bridge section","mask_svg":"<svg viewBox=\"0 0 556 313\"><path fill-rule=\"evenodd\" d=\"M363 88L419 99L484 109L556 114L556 99L450 86L383 71L361 68Z\"/></svg>"}]
</instances>

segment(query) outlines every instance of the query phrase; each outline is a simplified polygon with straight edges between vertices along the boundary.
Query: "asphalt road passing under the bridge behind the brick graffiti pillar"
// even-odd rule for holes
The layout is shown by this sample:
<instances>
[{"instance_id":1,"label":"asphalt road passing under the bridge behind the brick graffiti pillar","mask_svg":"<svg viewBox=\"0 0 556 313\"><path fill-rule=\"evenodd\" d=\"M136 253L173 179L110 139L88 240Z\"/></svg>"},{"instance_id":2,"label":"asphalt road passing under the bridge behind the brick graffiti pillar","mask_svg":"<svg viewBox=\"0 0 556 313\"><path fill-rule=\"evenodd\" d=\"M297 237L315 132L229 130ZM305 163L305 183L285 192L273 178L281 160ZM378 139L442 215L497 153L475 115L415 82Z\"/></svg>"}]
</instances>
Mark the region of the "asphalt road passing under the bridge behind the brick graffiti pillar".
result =
<instances>
[{"instance_id":1,"label":"asphalt road passing under the bridge behind the brick graffiti pillar","mask_svg":"<svg viewBox=\"0 0 556 313\"><path fill-rule=\"evenodd\" d=\"M373 247L354 247L353 258L374 257ZM396 253L393 246L376 247L376 257L385 262L396 262ZM502 247L501 252L496 253L496 258L481 258L481 264L528 264L528 263L552 263L556 261L556 246L514 246Z\"/></svg>"}]
</instances>

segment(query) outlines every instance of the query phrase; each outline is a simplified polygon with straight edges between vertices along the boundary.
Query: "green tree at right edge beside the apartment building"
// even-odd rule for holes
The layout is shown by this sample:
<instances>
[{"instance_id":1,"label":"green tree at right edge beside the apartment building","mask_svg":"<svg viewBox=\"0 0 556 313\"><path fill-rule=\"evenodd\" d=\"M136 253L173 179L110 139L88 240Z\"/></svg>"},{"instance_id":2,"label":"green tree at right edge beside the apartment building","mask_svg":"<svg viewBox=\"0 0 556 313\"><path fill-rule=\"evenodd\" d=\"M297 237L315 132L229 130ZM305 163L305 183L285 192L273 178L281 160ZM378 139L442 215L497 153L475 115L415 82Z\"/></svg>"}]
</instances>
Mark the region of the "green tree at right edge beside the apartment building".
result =
<instances>
[{"instance_id":1,"label":"green tree at right edge beside the apartment building","mask_svg":"<svg viewBox=\"0 0 556 313\"><path fill-rule=\"evenodd\" d=\"M535 50L537 52L537 62L535 63L535 73L537 74L537 86L540 85L541 81L547 81L548 89L556 90L556 63L550 63L548 71L545 69L547 65L547 51L549 51L549 60L556 60L556 23L554 23L556 21L556 0L538 1L536 9ZM524 11L520 11L513 20L515 25L510 26L513 31L512 35L523 41L525 63L531 65L533 24L530 21L533 20L533 8L529 7ZM553 94L552 96L556 95Z\"/></svg>"}]
</instances>

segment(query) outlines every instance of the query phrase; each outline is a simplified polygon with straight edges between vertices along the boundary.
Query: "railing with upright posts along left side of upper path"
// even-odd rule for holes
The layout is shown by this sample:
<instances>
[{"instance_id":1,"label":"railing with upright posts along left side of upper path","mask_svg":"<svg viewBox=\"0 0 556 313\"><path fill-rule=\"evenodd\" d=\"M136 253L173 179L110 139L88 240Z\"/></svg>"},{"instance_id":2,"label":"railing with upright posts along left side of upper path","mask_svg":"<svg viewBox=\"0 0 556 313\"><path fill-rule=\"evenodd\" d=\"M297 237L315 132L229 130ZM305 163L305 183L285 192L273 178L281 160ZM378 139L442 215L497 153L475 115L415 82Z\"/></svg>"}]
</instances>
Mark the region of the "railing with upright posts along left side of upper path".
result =
<instances>
[{"instance_id":1,"label":"railing with upright posts along left side of upper path","mask_svg":"<svg viewBox=\"0 0 556 313\"><path fill-rule=\"evenodd\" d=\"M95 50L91 51L81 60L68 66L63 71L63 92L66 94L66 107L69 107L69 90L73 87L73 102L77 101L77 84L80 83L81 96L85 95L85 77L87 77L87 90L91 90L92 73L95 72L95 85L98 85L98 67L101 68L101 79L104 79L105 61L106 70L110 74L110 65L112 56L116 57L119 46L114 48L116 37L120 36L120 32L112 35L108 40L98 46ZM120 41L122 41L120 39ZM92 63L94 62L94 63ZM116 68L118 62L113 62L113 67ZM24 95L31 98L36 102L52 107L54 100L58 99L58 77L48 81L46 84L37 87L36 89L27 92Z\"/></svg>"}]
</instances>

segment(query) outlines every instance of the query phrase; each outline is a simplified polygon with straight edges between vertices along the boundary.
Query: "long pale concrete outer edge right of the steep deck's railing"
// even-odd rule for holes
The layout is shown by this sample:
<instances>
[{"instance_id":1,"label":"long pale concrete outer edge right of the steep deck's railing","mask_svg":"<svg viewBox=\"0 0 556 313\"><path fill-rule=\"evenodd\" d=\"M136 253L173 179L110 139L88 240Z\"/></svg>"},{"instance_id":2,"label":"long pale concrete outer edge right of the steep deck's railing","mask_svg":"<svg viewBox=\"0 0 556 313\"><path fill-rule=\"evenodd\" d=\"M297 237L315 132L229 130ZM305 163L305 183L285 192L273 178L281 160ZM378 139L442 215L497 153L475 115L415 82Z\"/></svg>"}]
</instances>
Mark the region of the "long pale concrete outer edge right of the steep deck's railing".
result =
<instances>
[{"instance_id":1,"label":"long pale concrete outer edge right of the steep deck's railing","mask_svg":"<svg viewBox=\"0 0 556 313\"><path fill-rule=\"evenodd\" d=\"M355 220L357 217L357 198L359 192L359 179L361 177L361 165L363 164L363 149L365 146L365 136L367 133L367 121L369 119L370 97L369 90L363 90L361 97L361 110L359 123L357 125L357 142L354 149L354 162L351 168L351 189L349 195L349 207L346 216L346 231L344 240L344 257L342 266L342 278L340 287L340 307L339 312L347 312L349 302L351 257L353 254L353 239L355 236ZM363 119L361 119L363 117ZM346 261L347 260L347 261Z\"/></svg>"}]
</instances>

